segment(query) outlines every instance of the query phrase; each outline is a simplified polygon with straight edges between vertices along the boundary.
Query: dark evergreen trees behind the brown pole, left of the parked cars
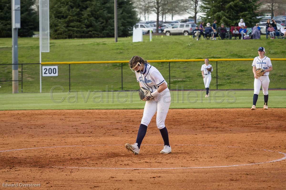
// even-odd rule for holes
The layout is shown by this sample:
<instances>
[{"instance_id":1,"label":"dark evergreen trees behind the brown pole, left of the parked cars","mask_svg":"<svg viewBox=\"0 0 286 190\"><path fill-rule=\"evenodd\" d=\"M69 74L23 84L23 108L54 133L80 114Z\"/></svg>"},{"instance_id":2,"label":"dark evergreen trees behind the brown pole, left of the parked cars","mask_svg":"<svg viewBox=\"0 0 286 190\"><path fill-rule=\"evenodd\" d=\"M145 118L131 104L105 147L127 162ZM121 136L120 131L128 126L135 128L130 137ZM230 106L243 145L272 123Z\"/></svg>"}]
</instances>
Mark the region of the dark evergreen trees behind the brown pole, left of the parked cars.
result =
<instances>
[{"instance_id":1,"label":"dark evergreen trees behind the brown pole, left of the parked cars","mask_svg":"<svg viewBox=\"0 0 286 190\"><path fill-rule=\"evenodd\" d=\"M118 0L118 36L138 21L131 0ZM113 0L50 0L51 38L114 37Z\"/></svg>"}]
</instances>

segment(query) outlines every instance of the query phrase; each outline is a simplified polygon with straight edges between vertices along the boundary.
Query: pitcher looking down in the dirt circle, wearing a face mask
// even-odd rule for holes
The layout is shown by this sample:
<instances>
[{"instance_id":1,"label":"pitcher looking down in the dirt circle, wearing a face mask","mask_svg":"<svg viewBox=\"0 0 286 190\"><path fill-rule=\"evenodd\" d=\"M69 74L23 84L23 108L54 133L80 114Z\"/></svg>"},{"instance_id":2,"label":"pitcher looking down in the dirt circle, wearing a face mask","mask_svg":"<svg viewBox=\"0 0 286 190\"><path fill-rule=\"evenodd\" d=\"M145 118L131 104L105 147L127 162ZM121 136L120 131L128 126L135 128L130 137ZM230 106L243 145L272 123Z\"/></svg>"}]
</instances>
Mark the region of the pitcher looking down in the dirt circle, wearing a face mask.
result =
<instances>
[{"instance_id":1,"label":"pitcher looking down in the dirt circle, wearing a face mask","mask_svg":"<svg viewBox=\"0 0 286 190\"><path fill-rule=\"evenodd\" d=\"M147 127L152 117L157 112L156 123L164 140L164 148L160 151L160 153L171 153L172 150L169 144L168 130L165 126L165 119L171 103L171 95L167 82L154 66L150 65L146 60L139 56L133 56L130 59L129 67L132 69L132 71L134 69L139 86L150 90L152 92L151 96L154 96L154 99L148 100L145 103L136 143L133 145L126 143L125 147L132 153L139 154L140 145L146 134Z\"/></svg>"}]
</instances>

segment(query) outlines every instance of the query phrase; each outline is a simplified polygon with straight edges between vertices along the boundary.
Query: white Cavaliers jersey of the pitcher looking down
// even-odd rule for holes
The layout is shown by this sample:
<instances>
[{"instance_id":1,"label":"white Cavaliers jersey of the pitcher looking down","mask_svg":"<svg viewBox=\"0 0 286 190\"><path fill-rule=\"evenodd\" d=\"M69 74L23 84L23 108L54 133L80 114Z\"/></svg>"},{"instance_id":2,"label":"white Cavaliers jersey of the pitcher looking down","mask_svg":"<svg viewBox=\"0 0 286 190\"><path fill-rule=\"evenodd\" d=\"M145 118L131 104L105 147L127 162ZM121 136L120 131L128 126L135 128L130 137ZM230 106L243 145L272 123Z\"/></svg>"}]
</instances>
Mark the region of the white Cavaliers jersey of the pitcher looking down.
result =
<instances>
[{"instance_id":1,"label":"white Cavaliers jersey of the pitcher looking down","mask_svg":"<svg viewBox=\"0 0 286 190\"><path fill-rule=\"evenodd\" d=\"M144 71L135 74L137 82L140 82L141 86L151 92L154 92L164 82L168 84L158 69L148 63L144 63Z\"/></svg>"}]
</instances>

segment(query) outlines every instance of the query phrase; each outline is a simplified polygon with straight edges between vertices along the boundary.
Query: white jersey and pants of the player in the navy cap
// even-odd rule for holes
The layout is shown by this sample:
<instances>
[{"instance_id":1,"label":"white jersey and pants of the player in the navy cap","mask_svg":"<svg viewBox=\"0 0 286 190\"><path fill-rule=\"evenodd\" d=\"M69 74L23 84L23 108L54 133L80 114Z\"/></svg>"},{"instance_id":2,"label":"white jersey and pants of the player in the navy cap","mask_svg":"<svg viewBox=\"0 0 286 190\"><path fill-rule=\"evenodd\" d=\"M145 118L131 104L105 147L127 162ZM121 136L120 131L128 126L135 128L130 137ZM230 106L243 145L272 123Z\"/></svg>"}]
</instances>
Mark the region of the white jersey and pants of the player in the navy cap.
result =
<instances>
[{"instance_id":1,"label":"white jersey and pants of the player in the navy cap","mask_svg":"<svg viewBox=\"0 0 286 190\"><path fill-rule=\"evenodd\" d=\"M260 59L259 56L257 56L254 58L252 66L256 68L268 69L272 66L272 64L269 57L265 56L263 59ZM270 82L268 75L269 72L265 72L263 76L254 79L254 94L259 94L261 86L263 94L268 94L268 87Z\"/></svg>"}]
</instances>

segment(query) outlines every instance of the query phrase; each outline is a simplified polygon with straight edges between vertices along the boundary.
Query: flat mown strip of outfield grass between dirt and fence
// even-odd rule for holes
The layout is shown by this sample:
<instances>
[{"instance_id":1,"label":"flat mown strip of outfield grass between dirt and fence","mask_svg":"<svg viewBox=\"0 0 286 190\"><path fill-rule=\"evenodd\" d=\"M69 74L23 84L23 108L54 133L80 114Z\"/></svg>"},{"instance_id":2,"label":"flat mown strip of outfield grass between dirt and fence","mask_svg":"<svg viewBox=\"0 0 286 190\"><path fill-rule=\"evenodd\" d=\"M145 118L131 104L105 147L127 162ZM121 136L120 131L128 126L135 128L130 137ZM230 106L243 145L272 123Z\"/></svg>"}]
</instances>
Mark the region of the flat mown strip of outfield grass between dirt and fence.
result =
<instances>
[{"instance_id":1,"label":"flat mown strip of outfield grass between dirt and fence","mask_svg":"<svg viewBox=\"0 0 286 190\"><path fill-rule=\"evenodd\" d=\"M253 91L171 91L170 108L251 108ZM77 96L77 98L76 98ZM113 97L113 98L112 98ZM269 108L285 108L285 90L269 91ZM260 92L257 108L263 107L263 93ZM46 110L46 109L143 109L138 92L88 92L2 94L0 110Z\"/></svg>"}]
</instances>

